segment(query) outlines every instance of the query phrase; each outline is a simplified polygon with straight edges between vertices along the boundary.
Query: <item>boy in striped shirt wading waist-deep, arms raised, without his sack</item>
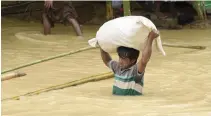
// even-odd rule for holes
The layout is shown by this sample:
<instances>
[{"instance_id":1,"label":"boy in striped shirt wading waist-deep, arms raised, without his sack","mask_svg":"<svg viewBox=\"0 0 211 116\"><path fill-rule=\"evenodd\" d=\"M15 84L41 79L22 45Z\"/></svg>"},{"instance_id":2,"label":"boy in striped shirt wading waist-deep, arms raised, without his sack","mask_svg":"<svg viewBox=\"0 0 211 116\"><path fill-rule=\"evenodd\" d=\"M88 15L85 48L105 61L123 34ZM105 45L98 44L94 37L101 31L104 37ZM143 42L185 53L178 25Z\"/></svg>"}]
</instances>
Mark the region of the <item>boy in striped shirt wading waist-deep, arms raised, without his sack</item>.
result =
<instances>
[{"instance_id":1,"label":"boy in striped shirt wading waist-deep, arms raised, without his sack","mask_svg":"<svg viewBox=\"0 0 211 116\"><path fill-rule=\"evenodd\" d=\"M152 42L159 34L151 31L142 51L142 58L137 63L139 51L120 46L117 48L119 62L111 59L110 55L100 48L101 57L115 76L113 85L114 95L142 95L144 73L152 53Z\"/></svg>"}]
</instances>

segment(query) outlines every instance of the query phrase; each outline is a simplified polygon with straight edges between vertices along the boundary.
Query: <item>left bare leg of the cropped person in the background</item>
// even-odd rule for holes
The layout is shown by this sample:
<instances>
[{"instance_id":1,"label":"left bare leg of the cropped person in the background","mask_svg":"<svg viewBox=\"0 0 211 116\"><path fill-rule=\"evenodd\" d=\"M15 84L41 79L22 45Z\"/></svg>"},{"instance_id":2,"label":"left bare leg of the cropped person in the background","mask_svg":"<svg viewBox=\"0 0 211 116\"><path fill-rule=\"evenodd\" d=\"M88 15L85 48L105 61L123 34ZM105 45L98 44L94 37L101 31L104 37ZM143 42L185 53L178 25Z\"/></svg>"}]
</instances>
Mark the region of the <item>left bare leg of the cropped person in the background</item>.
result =
<instances>
[{"instance_id":1,"label":"left bare leg of the cropped person in the background","mask_svg":"<svg viewBox=\"0 0 211 116\"><path fill-rule=\"evenodd\" d=\"M42 18L43 18L43 28L44 28L44 34L48 35L51 33L51 25L50 22L47 18L47 15L45 13L42 14Z\"/></svg>"}]
</instances>

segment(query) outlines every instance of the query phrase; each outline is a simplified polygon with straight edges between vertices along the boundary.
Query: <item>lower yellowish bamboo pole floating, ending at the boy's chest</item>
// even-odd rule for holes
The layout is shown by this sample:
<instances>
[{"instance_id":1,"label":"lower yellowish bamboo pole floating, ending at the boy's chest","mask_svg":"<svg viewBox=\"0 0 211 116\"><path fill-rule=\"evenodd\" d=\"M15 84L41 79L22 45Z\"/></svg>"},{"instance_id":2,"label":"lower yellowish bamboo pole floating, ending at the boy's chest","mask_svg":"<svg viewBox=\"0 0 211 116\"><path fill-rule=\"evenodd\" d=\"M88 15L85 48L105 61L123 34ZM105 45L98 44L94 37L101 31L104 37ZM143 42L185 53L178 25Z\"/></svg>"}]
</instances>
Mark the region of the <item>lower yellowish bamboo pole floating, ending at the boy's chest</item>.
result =
<instances>
[{"instance_id":1,"label":"lower yellowish bamboo pole floating, ending at the boy's chest","mask_svg":"<svg viewBox=\"0 0 211 116\"><path fill-rule=\"evenodd\" d=\"M14 97L11 97L11 98L5 98L5 99L2 99L1 101L19 100L20 97L22 97L22 96L38 95L38 94L43 93L43 92L49 92L49 91L52 91L52 90L63 89L63 88L76 86L76 85L80 85L80 84L84 84L84 83L88 83L88 82L105 80L105 79L109 79L109 78L112 78L112 77L113 77L113 73L112 72L99 74L99 75L94 75L94 76L82 78L82 79L79 79L79 80L70 81L70 82L67 82L67 83L59 84L59 85L50 86L48 88L36 90L36 91L33 91L33 92L28 92L28 93L23 94L23 95L14 96Z\"/></svg>"}]
</instances>

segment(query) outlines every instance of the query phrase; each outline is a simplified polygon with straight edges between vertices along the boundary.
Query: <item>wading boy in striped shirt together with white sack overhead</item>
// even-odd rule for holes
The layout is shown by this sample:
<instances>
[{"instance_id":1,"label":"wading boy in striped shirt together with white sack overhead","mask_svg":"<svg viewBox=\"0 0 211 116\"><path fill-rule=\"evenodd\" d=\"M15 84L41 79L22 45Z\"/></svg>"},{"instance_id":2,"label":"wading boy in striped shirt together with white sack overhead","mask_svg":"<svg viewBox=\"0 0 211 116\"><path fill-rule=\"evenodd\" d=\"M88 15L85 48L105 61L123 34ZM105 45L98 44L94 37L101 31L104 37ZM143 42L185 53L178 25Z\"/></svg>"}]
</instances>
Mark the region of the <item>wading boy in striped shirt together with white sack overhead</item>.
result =
<instances>
[{"instance_id":1,"label":"wading boy in striped shirt together with white sack overhead","mask_svg":"<svg viewBox=\"0 0 211 116\"><path fill-rule=\"evenodd\" d=\"M111 35L115 36L111 37L112 40L110 38L110 45L108 45L107 47L105 46L105 44L109 43L108 42L109 38L105 40L106 42L102 40L102 38L100 38L100 33L102 32L101 29L103 28L105 29L105 27L108 28L107 24L109 23L107 24L105 23L103 25L105 27L103 26L100 27L99 31L97 32L96 38L90 40L89 44L94 47L96 46L100 47L101 57L104 64L108 68L110 68L114 73L115 76L115 81L113 85L114 95L142 95L145 68L151 57L153 41L155 39L158 39L159 32L153 26L148 28L147 26L143 26L142 25L143 23L140 25L140 22L137 19L143 19L143 18L146 19L145 17L127 16L121 18L123 18L122 22L124 22L124 24L110 25L110 30L112 30L114 33L112 33L112 31L110 30L107 30L108 33L105 32L105 34L101 36L102 38ZM121 18L117 18L109 22L111 22L111 24L119 23L119 21L121 21ZM127 18L129 18L129 20ZM127 22L127 21L134 21L134 22ZM134 23L136 24L137 23L136 21L138 21L139 23L138 26L137 25L133 26L132 24ZM125 24L128 28L122 30L124 29ZM148 28L148 29L143 29L143 28ZM143 31L142 36L139 36L141 35L140 30ZM149 30L150 32L147 33L147 31ZM147 36L145 37L146 33ZM140 37L138 39L140 41L137 40L138 38L137 35ZM118 36L119 38L116 38ZM97 42L95 43L95 41ZM134 41L136 42L135 44L133 44ZM159 40L159 42L162 45L161 40ZM142 48L142 58L137 62L141 48ZM112 53L115 50L119 56L118 62L112 60L112 58L109 55L109 53ZM165 55L164 50L162 51L162 53L163 55Z\"/></svg>"}]
</instances>

